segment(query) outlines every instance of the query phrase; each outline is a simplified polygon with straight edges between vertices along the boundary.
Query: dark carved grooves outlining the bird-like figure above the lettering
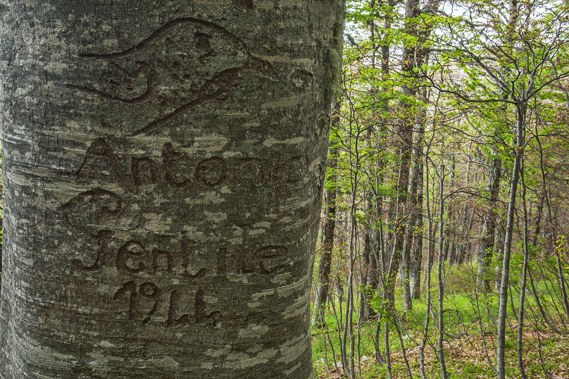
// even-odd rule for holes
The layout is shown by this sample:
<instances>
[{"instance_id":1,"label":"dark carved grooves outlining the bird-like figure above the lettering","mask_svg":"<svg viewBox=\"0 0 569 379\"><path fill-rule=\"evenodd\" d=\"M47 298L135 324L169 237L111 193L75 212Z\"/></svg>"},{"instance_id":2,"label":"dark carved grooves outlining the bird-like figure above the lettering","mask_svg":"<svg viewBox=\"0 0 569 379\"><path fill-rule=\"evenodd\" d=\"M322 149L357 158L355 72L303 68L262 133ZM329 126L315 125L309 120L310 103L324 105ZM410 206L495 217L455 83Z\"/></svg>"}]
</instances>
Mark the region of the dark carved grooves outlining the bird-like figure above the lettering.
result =
<instances>
[{"instance_id":1,"label":"dark carved grooves outlining the bird-like figure above the lettering","mask_svg":"<svg viewBox=\"0 0 569 379\"><path fill-rule=\"evenodd\" d=\"M249 10L249 2L240 1L238 4L245 6L245 9ZM147 51L147 49L152 47L152 45L158 44L160 40L164 40L164 43L167 45L185 43L183 36L178 38L177 42L172 40L171 37L167 37L167 35L171 34L171 32L174 34L174 30L176 28L185 25L193 25L196 27L196 29L201 28L202 30L212 33L212 35L210 35L204 32L196 31L193 34L193 40L195 41L194 45L198 51L196 54L196 62L199 62L200 64L204 63L213 56L213 53L215 51L211 46L210 40L214 36L220 36L222 39L232 45L234 51L241 53L242 56L245 56L245 63L242 63L240 66L227 67L221 71L218 71L217 73L214 73L210 78L201 78L203 80L203 84L201 84L198 88L185 88L185 92L187 92L188 95L189 93L192 93L191 99L179 96L167 97L166 95L161 94L159 91L161 86L159 85L159 76L157 70L160 69L164 72L167 72L170 78L178 83L178 86L180 88L183 88L183 86L189 81L195 80L196 78L200 79L199 75L195 73L183 74L183 69L185 66L180 63L179 60L168 64L158 58L151 57L152 54L144 53ZM188 35L189 33L184 33L182 31L180 34ZM172 35L172 37L173 36L174 35ZM118 102L125 105L139 105L156 98L160 100L161 107L170 107L170 105L174 103L177 104L173 111L167 111L166 113L163 113L162 116L159 116L158 118L152 120L145 127L130 132L129 135L131 136L148 135L163 126L166 126L177 116L185 114L197 106L205 105L207 103L228 102L233 91L241 84L241 77L245 73L254 73L258 76L265 77L270 80L278 79L277 72L273 66L268 61L252 55L249 47L244 43L243 40L215 23L195 18L174 19L164 24L164 26L158 28L158 30L154 31L150 36L142 40L140 43L120 52L108 54L80 54L79 56L83 59L101 61L106 63L106 70L112 75L114 71L114 76L117 77L116 81L112 80L109 82L114 85L125 86L123 89L125 89L127 92L132 93L137 91L137 89L134 88L133 81L137 80L138 77L143 78L145 85L144 88L138 89L138 92L141 94L130 98L118 94L118 91L117 93L113 94L109 93L109 91L99 90L96 88L91 88L89 86L68 84L70 88L80 90L85 94L95 95L104 99L105 101ZM138 57L139 59L134 62L134 65L136 67L134 72L130 72L127 68L125 68L128 66L125 65L125 62L122 62L122 65L119 64L119 60L130 57ZM179 59L181 58L182 60L187 60L188 65L192 62L191 57L188 57L187 54L182 54L181 57L180 55L177 55L177 57ZM196 70L196 72L199 72L199 70Z\"/></svg>"}]
</instances>

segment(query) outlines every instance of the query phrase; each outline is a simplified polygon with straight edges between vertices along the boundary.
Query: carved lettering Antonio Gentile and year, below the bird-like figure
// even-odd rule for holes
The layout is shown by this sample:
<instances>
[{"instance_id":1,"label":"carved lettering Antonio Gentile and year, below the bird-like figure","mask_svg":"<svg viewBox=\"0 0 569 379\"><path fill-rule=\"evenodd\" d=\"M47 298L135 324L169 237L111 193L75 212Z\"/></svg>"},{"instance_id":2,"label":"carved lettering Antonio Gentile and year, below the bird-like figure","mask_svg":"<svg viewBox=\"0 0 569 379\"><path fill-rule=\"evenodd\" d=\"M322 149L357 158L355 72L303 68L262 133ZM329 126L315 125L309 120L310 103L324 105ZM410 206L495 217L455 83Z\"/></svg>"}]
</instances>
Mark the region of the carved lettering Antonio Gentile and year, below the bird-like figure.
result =
<instances>
[{"instance_id":1,"label":"carved lettering Antonio Gentile and year, below the bird-like figure","mask_svg":"<svg viewBox=\"0 0 569 379\"><path fill-rule=\"evenodd\" d=\"M106 140L97 138L87 149L76 176L89 181L106 177L126 191L161 184L174 190L192 186L215 189L228 185L235 188L245 184L276 185L281 190L302 185L308 170L305 157L283 157L278 153L268 160L258 157L225 160L213 156L196 162L184 152L177 151L171 143L164 143L159 158L137 155L130 157L129 163L125 164ZM188 167L193 170L188 172ZM65 223L88 236L94 245L92 253L85 252L85 257L72 260L73 268L84 274L116 269L117 273L126 276L113 298L117 304L127 304L125 311L131 321L143 325L164 322L166 327L218 327L223 315L215 309L208 310L205 301L203 286L208 276L271 276L285 268L287 248L267 245L251 249L248 226L242 226L242 242L238 245L200 246L197 241L180 236L179 248L173 251L171 245L149 245L138 239L119 240L114 230L126 207L121 195L97 188L76 195L61 206L61 211ZM204 249L207 250L205 255ZM181 309L177 289L166 289L160 284L170 275L187 281L185 286L195 290L193 311ZM145 280L141 283L137 278Z\"/></svg>"}]
</instances>

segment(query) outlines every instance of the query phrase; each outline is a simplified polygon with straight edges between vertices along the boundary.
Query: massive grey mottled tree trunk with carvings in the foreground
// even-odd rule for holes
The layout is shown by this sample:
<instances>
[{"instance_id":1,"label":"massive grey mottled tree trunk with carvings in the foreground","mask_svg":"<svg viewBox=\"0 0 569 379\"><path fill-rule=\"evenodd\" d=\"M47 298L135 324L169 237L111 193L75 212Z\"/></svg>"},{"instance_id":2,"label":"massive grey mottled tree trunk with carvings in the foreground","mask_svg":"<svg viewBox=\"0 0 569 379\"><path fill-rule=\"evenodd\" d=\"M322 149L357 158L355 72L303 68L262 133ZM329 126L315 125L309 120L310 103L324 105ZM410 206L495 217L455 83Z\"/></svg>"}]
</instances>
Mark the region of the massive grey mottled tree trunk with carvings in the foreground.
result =
<instances>
[{"instance_id":1,"label":"massive grey mottled tree trunk with carvings in the foreground","mask_svg":"<svg viewBox=\"0 0 569 379\"><path fill-rule=\"evenodd\" d=\"M5 0L0 376L311 378L336 0Z\"/></svg>"}]
</instances>

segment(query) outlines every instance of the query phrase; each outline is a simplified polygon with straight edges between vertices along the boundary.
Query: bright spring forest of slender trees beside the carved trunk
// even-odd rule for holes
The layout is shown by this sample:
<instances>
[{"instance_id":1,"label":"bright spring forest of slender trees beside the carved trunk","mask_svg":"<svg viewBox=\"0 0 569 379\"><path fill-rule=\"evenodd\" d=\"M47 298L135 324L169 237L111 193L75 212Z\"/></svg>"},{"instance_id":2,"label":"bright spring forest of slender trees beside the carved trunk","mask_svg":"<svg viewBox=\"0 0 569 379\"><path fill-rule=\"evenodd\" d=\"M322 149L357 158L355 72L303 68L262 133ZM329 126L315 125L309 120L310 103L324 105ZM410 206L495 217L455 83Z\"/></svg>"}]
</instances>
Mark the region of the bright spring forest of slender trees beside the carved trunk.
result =
<instances>
[{"instance_id":1,"label":"bright spring forest of slender trees beside the carved trunk","mask_svg":"<svg viewBox=\"0 0 569 379\"><path fill-rule=\"evenodd\" d=\"M347 3L320 378L568 378L569 2Z\"/></svg>"}]
</instances>

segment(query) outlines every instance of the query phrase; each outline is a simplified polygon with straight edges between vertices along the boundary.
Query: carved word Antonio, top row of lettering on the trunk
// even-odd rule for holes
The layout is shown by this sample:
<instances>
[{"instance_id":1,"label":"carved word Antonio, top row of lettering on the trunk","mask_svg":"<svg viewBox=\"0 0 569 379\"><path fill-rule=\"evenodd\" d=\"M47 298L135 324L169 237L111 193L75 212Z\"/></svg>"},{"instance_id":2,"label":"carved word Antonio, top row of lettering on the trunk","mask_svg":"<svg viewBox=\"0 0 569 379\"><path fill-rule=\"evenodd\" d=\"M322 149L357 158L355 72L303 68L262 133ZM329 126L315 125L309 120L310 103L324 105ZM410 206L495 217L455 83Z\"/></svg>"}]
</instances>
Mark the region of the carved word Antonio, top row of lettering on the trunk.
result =
<instances>
[{"instance_id":1,"label":"carved word Antonio, top row of lettering on the trunk","mask_svg":"<svg viewBox=\"0 0 569 379\"><path fill-rule=\"evenodd\" d=\"M165 182L172 189L192 185L213 189L225 184L237 187L244 181L251 181L255 186L300 186L308 170L308 160L304 156L281 157L279 153L274 153L270 159L236 157L230 160L213 156L193 163L193 177L185 177L180 174L178 166L188 164L189 156L176 151L169 142L163 145L161 159L131 156L130 165L126 167L119 163L121 161L107 141L97 138L87 149L83 164L76 174L83 179L100 177L100 167L104 166L123 188Z\"/></svg>"}]
</instances>

